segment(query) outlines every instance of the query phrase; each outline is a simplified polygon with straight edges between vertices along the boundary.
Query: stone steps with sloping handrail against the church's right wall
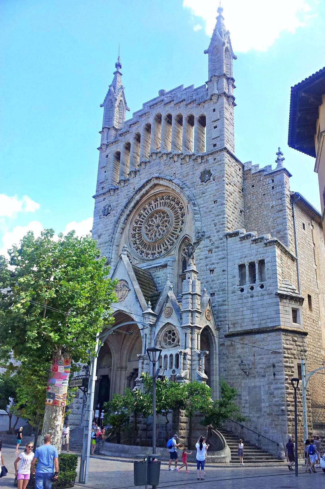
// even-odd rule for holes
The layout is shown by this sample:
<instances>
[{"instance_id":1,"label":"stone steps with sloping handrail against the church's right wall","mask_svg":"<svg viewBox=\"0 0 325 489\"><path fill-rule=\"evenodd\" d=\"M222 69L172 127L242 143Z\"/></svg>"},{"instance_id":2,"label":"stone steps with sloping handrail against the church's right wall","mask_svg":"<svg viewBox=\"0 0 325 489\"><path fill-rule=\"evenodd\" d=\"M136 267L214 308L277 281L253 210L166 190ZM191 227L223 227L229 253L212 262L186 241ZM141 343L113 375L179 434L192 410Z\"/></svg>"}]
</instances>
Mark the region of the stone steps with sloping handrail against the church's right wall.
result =
<instances>
[{"instance_id":1,"label":"stone steps with sloping handrail against the church's right wall","mask_svg":"<svg viewBox=\"0 0 325 489\"><path fill-rule=\"evenodd\" d=\"M238 437L234 435L232 431L228 431L226 429L218 429L218 431L224 436L227 445L230 448L231 451L231 463L232 464L239 464L239 458L238 458ZM263 450L262 448L259 448L256 445L253 445L252 443L245 441L245 439L242 439L243 444L244 444L244 464L249 463L249 464L265 464L265 463L274 463L274 462L279 462L283 464L283 460L280 460L277 456L272 455L271 453L268 453L267 451Z\"/></svg>"}]
</instances>

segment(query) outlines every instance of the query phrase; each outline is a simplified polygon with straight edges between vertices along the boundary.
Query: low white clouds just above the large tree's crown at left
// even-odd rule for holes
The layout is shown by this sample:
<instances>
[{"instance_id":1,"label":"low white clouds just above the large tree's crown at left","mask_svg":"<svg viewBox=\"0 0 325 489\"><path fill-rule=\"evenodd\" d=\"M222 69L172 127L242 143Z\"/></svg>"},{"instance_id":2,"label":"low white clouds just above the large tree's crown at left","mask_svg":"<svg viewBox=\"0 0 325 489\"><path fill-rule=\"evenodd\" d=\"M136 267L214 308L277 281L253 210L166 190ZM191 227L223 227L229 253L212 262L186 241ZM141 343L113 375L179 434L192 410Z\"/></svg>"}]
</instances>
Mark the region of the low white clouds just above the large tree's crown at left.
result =
<instances>
[{"instance_id":1,"label":"low white clouds just above the large tree's crown at left","mask_svg":"<svg viewBox=\"0 0 325 489\"><path fill-rule=\"evenodd\" d=\"M85 219L81 222L72 221L66 224L63 234L67 234L69 231L74 229L76 235L79 237L86 236L86 234L91 234L90 230L92 228L92 217ZM7 250L12 248L14 244L19 244L20 240L25 236L28 231L33 231L35 238L41 235L43 226L39 221L31 221L26 226L15 226L12 231L6 231L2 236L2 244L0 244L0 255L4 255L9 258ZM58 239L55 235L53 239Z\"/></svg>"}]
</instances>

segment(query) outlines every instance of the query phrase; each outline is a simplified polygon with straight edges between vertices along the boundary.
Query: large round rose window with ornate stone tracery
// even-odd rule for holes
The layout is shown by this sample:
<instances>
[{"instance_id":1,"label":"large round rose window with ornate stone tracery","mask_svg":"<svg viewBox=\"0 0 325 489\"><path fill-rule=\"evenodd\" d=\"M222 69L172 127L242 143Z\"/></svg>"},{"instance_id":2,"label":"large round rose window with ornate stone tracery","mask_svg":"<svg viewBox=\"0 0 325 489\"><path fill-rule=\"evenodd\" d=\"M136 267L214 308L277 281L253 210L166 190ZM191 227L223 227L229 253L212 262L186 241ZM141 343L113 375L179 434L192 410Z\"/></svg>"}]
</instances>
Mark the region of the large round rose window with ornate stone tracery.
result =
<instances>
[{"instance_id":1,"label":"large round rose window with ornate stone tracery","mask_svg":"<svg viewBox=\"0 0 325 489\"><path fill-rule=\"evenodd\" d=\"M185 224L185 208L173 194L159 194L141 204L130 227L134 251L145 259L167 253L180 237Z\"/></svg>"}]
</instances>

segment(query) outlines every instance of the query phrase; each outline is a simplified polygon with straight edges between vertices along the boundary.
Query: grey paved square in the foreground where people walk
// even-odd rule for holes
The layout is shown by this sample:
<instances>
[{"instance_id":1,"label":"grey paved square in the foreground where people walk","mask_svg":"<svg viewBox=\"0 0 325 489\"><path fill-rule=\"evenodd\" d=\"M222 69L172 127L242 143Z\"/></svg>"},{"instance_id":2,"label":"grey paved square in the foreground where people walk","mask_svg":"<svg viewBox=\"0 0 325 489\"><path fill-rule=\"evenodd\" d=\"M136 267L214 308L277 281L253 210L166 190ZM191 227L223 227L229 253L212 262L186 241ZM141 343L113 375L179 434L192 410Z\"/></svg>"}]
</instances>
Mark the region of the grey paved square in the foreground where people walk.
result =
<instances>
[{"instance_id":1,"label":"grey paved square in the foreground where people walk","mask_svg":"<svg viewBox=\"0 0 325 489\"><path fill-rule=\"evenodd\" d=\"M4 446L2 448L4 464L8 469L6 477L0 479L1 489L11 489L14 482L14 460L15 449ZM79 459L80 460L80 459ZM208 466L205 480L196 480L194 465L189 466L190 473L184 469L178 472L169 472L167 464L162 464L160 472L159 488L183 489L305 489L307 486L323 487L325 484L325 473L318 469L317 474L305 474L303 467L299 467L299 477L294 472L289 472L285 465L273 467L220 467ZM79 471L79 466L78 466ZM85 487L78 484L76 489ZM89 464L89 489L134 489L133 486L133 464L127 459L112 459L110 457L94 456L90 458ZM139 486L144 489L144 486Z\"/></svg>"}]
</instances>

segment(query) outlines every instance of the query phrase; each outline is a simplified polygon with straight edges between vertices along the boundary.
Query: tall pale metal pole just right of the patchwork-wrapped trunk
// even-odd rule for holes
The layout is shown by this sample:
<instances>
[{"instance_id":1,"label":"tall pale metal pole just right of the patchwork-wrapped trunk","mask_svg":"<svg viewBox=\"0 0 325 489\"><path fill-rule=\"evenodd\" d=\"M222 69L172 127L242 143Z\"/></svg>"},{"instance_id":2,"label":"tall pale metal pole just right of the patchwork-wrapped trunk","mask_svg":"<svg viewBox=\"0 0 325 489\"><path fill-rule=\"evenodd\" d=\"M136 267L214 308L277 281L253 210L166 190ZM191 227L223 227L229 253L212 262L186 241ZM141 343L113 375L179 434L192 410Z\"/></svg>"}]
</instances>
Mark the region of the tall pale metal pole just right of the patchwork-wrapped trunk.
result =
<instances>
[{"instance_id":1,"label":"tall pale metal pole just right of the patchwork-wrapped trunk","mask_svg":"<svg viewBox=\"0 0 325 489\"><path fill-rule=\"evenodd\" d=\"M88 395L85 414L85 428L84 428L84 441L83 449L80 460L79 471L79 483L87 484L89 477L89 458L90 458L90 437L91 437L91 423L92 423L92 406L94 404L95 395L95 382L96 382L96 368L97 368L97 354L98 354L99 335L96 338L95 356L91 358L89 369L89 381L88 381Z\"/></svg>"}]
</instances>

